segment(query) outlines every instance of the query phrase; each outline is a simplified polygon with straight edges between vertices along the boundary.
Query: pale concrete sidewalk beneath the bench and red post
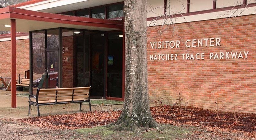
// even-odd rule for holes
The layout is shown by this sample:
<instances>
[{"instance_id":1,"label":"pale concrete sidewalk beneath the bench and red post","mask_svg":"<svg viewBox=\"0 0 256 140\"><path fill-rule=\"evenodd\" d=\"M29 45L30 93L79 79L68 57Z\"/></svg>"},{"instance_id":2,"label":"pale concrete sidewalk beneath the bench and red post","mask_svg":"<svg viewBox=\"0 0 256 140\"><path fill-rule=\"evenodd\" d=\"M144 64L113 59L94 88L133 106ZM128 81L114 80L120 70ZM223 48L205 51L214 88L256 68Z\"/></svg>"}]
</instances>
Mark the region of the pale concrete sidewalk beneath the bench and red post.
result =
<instances>
[{"instance_id":1,"label":"pale concrete sidewalk beneath the bench and red post","mask_svg":"<svg viewBox=\"0 0 256 140\"><path fill-rule=\"evenodd\" d=\"M31 115L28 115L28 97L19 97L18 94L26 94L28 92L17 91L17 108L11 108L11 91L0 90L0 116L14 119L37 117L36 106L31 106ZM8 94L8 95L6 95ZM113 105L114 109L122 108L123 105ZM89 111L87 103L82 104L82 111L79 111L79 103L61 104L61 105L43 105L39 106L40 116L54 114L68 114ZM106 106L92 106L92 111L108 110Z\"/></svg>"}]
</instances>

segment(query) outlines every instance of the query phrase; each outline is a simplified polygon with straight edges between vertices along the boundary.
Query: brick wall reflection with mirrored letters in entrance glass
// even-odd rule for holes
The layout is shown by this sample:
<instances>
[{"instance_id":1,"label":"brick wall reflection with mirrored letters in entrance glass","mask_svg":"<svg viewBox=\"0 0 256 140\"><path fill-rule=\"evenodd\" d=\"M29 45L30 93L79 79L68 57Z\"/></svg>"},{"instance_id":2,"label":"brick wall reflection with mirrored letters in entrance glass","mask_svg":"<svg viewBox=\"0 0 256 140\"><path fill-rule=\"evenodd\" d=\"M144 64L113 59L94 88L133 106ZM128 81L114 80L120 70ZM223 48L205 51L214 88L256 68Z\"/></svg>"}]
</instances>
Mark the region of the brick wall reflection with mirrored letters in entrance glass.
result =
<instances>
[{"instance_id":1,"label":"brick wall reflection with mirrored letters in entrance glass","mask_svg":"<svg viewBox=\"0 0 256 140\"><path fill-rule=\"evenodd\" d=\"M65 50L62 50L62 75L59 76L62 76L62 87L71 88L74 74L74 36L62 37L62 47Z\"/></svg>"}]
</instances>

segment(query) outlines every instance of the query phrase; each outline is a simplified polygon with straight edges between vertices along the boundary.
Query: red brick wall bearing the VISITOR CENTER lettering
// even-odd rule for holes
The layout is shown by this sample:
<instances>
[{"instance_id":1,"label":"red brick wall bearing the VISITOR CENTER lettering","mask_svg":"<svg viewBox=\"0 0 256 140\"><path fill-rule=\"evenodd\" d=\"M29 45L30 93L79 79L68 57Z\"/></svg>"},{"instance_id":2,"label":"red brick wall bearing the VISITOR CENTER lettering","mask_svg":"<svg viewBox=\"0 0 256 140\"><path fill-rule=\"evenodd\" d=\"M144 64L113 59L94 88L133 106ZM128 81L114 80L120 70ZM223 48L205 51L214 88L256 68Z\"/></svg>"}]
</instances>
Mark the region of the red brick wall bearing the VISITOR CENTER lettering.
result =
<instances>
[{"instance_id":1,"label":"red brick wall bearing the VISITOR CENTER lettering","mask_svg":"<svg viewBox=\"0 0 256 140\"><path fill-rule=\"evenodd\" d=\"M147 33L150 101L163 98L169 104L170 99L172 105L181 92L182 105L187 100L189 106L215 109L218 99L225 111L240 106L242 112L256 113L255 15L149 27ZM207 47L184 45L188 39L216 37L221 39L220 46L209 47L209 41ZM179 40L180 48L151 48L150 42L171 40ZM210 52L236 51L249 53L247 58L209 59ZM205 53L205 59L183 60L182 53ZM158 54L178 54L178 60L150 60L150 55Z\"/></svg>"}]
</instances>

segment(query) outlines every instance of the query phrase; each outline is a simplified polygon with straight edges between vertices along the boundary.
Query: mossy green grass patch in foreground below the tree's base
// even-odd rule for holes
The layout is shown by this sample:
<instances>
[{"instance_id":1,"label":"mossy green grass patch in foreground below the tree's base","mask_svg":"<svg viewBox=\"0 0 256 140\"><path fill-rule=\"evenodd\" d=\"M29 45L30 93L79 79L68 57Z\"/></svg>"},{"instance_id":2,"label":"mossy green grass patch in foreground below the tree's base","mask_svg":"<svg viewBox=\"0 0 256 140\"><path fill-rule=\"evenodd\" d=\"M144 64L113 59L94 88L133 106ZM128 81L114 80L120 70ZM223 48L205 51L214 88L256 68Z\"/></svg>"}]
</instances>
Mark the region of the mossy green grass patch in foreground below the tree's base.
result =
<instances>
[{"instance_id":1,"label":"mossy green grass patch in foreground below the tree's base","mask_svg":"<svg viewBox=\"0 0 256 140\"><path fill-rule=\"evenodd\" d=\"M146 132L143 132L139 135L129 132L129 131L114 131L109 130L106 127L94 127L94 128L84 128L76 129L76 131L88 139L103 139L103 140L112 140L112 139L122 139L122 140L131 140L131 139L141 139L141 140L170 140L170 139L184 139L188 134L192 133L191 129L177 127L173 125L162 125L163 130L150 129Z\"/></svg>"}]
</instances>

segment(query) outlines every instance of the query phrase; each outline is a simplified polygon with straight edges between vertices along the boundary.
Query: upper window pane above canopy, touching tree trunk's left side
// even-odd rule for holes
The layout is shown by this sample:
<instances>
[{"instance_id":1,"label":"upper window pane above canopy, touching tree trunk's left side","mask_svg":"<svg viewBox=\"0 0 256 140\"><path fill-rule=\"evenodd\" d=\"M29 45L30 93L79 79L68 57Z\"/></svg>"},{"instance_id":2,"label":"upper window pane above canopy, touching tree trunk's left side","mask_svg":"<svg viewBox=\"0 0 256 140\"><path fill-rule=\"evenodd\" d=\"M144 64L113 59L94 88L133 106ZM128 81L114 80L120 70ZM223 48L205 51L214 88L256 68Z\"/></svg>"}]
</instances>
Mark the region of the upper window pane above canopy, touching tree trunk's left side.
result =
<instances>
[{"instance_id":1,"label":"upper window pane above canopy, touching tree trunk's left side","mask_svg":"<svg viewBox=\"0 0 256 140\"><path fill-rule=\"evenodd\" d=\"M108 6L108 18L118 18L124 16L124 4L112 4Z\"/></svg>"}]
</instances>

